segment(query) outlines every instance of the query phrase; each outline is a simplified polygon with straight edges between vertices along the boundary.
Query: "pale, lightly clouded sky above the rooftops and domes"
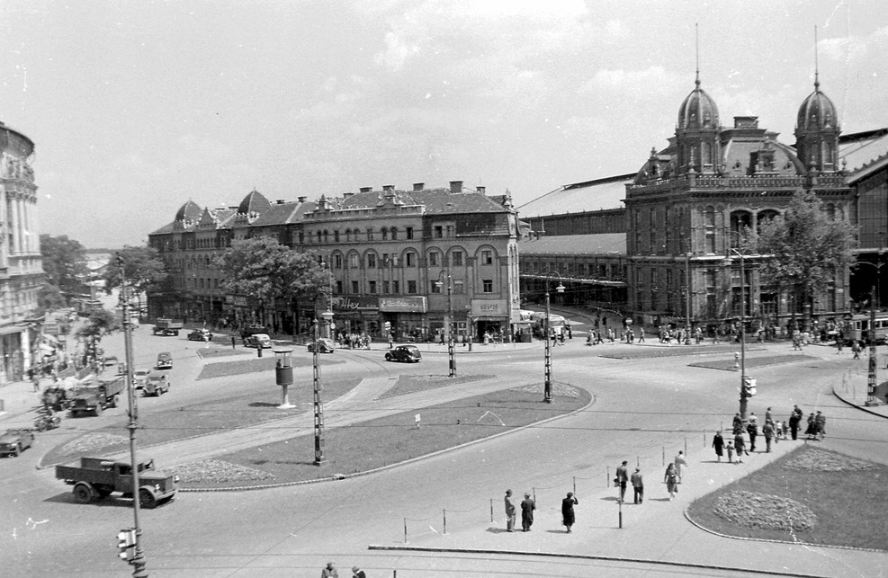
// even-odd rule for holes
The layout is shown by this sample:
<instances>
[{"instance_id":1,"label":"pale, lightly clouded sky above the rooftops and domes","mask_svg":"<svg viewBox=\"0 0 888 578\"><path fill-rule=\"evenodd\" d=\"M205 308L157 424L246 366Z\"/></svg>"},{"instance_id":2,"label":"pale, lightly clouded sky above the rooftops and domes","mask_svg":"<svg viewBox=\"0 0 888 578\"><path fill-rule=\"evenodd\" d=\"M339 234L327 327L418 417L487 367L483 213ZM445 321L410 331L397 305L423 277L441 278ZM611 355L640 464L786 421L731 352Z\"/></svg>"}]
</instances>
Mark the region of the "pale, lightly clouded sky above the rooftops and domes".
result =
<instances>
[{"instance_id":1,"label":"pale, lightly clouded sky above the rooftops and domes","mask_svg":"<svg viewBox=\"0 0 888 578\"><path fill-rule=\"evenodd\" d=\"M517 205L632 173L701 86L794 143L813 90L888 127L882 0L4 0L0 120L40 233L142 245L187 200L463 181Z\"/></svg>"}]
</instances>

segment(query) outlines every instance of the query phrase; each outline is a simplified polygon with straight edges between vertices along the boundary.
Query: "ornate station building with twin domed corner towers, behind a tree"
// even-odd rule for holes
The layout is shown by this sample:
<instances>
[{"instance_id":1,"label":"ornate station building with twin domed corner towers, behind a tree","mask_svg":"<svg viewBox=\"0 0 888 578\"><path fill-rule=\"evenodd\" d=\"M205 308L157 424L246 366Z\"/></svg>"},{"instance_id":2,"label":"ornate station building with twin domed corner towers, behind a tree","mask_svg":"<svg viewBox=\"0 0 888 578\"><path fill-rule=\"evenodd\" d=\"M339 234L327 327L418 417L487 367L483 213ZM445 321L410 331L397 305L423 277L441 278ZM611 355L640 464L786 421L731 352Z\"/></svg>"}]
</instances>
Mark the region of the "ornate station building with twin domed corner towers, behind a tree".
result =
<instances>
[{"instance_id":1,"label":"ornate station building with twin domed corner towers, behind a tree","mask_svg":"<svg viewBox=\"0 0 888 578\"><path fill-rule=\"evenodd\" d=\"M799 108L795 147L753 116L723 127L700 86L678 109L675 136L650 156L624 200L632 262L628 309L647 325L716 325L726 318L785 325L800 316L848 310L848 271L835 271L824 294L803 296L764 284L760 257L740 258L740 232L782 213L796 191L812 191L829 218L852 227L854 194L839 167L839 117L819 81ZM743 274L741 276L741 260Z\"/></svg>"}]
</instances>

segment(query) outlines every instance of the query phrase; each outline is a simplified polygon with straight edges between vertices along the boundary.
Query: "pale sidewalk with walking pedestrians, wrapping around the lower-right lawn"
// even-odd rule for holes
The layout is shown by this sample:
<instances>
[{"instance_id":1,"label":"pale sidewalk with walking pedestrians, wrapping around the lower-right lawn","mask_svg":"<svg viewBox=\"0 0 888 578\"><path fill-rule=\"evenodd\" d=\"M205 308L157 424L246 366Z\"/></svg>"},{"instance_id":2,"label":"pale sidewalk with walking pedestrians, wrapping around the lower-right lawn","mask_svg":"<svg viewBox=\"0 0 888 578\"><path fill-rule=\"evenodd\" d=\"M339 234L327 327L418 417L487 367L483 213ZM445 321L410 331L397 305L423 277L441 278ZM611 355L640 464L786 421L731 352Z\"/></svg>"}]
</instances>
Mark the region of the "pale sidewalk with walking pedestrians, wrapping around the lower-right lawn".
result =
<instances>
[{"instance_id":1,"label":"pale sidewalk with walking pedestrians, wrapping around the lower-right lawn","mask_svg":"<svg viewBox=\"0 0 888 578\"><path fill-rule=\"evenodd\" d=\"M703 568L737 568L750 572L793 576L841 576L859 574L856 569L881 567L885 555L833 547L785 544L748 538L723 538L700 529L683 516L684 509L698 497L709 494L750 472L784 456L804 441L781 440L771 453L756 453L744 463L731 465L714 461L712 449L692 452L689 467L679 485L674 502L669 502L663 485L663 470L642 471L645 482L644 503L632 503L632 486L627 489L622 508L617 502L618 489L603 487L604 475L596 479L599 489L585 489L578 484L577 524L566 533L561 526L561 499L572 491L570 478L563 487L536 490L537 510L530 532L520 529L518 511L516 532L508 536L505 529L502 496L493 500L494 521L481 521L480 512L471 520L451 514L450 526L442 528L442 520L432 522L432 531L415 528L408 543L371 545L372 550L422 551L435 553L499 554L505 556L576 556L598 560L651 561ZM659 461L659 460L657 460ZM614 467L616 464L613 465ZM630 465L630 472L633 471ZM611 468L613 474L614 468ZM580 478L577 478L578 480ZM588 478L586 478L588 479ZM492 496L491 496L492 498ZM523 499L523 488L516 488L516 505ZM623 528L620 524L622 510ZM819 556L812 556L819 555ZM779 562L778 562L779 561ZM677 568L673 568L677 571ZM859 574L864 575L864 574Z\"/></svg>"}]
</instances>

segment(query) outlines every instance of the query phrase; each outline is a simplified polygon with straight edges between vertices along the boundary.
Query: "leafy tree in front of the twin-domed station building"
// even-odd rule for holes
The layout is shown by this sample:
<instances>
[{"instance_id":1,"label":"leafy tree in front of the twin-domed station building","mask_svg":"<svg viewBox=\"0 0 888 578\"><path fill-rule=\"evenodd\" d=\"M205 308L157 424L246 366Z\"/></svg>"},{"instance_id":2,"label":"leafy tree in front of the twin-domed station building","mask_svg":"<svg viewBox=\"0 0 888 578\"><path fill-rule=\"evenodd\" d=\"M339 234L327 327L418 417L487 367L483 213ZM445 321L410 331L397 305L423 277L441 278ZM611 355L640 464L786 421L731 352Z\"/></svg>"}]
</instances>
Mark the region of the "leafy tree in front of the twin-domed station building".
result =
<instances>
[{"instance_id":1,"label":"leafy tree in front of the twin-domed station building","mask_svg":"<svg viewBox=\"0 0 888 578\"><path fill-rule=\"evenodd\" d=\"M830 220L812 191L796 192L783 215L747 229L747 253L767 255L759 269L762 283L790 289L797 302L813 305L814 296L848 271L855 240L848 223Z\"/></svg>"}]
</instances>

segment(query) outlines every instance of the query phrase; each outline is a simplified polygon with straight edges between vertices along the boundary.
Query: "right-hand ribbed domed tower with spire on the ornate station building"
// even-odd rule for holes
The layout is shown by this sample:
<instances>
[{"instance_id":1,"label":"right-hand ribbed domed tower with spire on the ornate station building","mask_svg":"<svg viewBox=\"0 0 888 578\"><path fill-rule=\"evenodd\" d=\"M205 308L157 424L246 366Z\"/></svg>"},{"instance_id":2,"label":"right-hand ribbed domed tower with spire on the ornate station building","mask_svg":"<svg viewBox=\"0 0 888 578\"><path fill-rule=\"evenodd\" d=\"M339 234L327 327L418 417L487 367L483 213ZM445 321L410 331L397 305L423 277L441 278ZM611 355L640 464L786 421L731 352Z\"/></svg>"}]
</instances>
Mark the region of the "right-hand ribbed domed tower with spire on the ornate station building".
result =
<instances>
[{"instance_id":1,"label":"right-hand ribbed domed tower with spire on the ornate station building","mask_svg":"<svg viewBox=\"0 0 888 578\"><path fill-rule=\"evenodd\" d=\"M819 173L838 171L839 115L830 98L821 93L818 73L814 92L802 102L795 120L795 150L805 168Z\"/></svg>"}]
</instances>

